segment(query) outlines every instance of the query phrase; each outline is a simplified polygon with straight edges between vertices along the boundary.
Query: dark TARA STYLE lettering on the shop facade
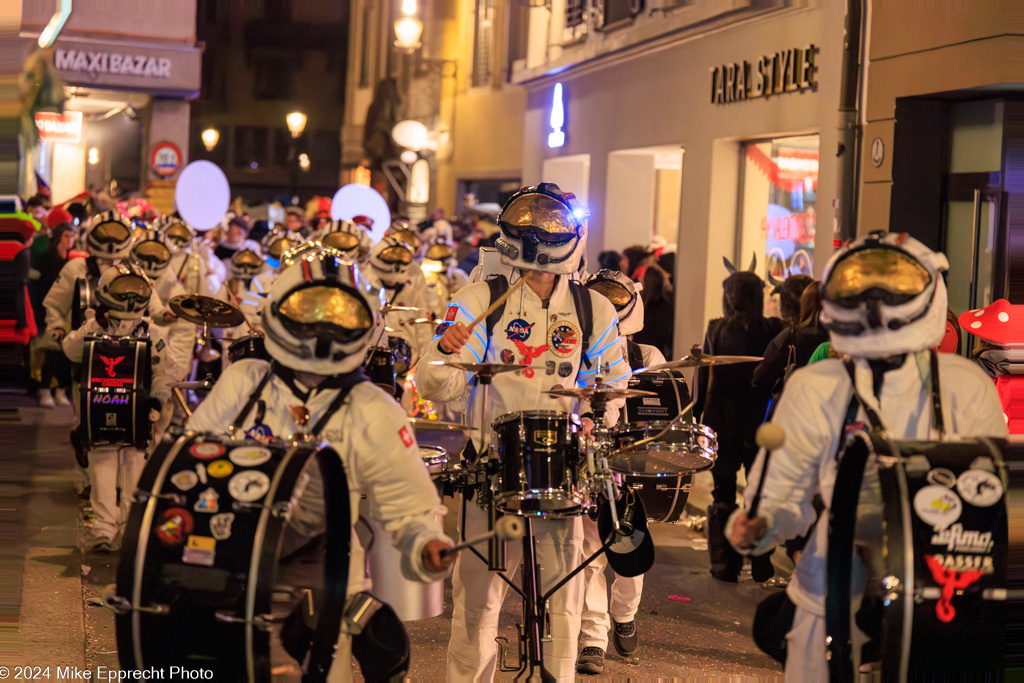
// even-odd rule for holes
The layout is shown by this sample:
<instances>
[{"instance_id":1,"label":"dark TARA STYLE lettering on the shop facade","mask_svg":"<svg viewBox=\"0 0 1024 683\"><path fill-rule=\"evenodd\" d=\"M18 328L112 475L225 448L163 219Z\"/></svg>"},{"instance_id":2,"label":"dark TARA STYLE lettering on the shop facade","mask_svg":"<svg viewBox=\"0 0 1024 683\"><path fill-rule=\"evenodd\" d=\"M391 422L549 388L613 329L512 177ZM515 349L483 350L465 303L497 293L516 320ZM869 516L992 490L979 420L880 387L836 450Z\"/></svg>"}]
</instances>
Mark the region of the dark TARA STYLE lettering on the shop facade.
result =
<instances>
[{"instance_id":1,"label":"dark TARA STYLE lettering on the shop facade","mask_svg":"<svg viewBox=\"0 0 1024 683\"><path fill-rule=\"evenodd\" d=\"M795 47L760 57L754 62L711 69L711 103L770 97L818 86L815 45Z\"/></svg>"}]
</instances>

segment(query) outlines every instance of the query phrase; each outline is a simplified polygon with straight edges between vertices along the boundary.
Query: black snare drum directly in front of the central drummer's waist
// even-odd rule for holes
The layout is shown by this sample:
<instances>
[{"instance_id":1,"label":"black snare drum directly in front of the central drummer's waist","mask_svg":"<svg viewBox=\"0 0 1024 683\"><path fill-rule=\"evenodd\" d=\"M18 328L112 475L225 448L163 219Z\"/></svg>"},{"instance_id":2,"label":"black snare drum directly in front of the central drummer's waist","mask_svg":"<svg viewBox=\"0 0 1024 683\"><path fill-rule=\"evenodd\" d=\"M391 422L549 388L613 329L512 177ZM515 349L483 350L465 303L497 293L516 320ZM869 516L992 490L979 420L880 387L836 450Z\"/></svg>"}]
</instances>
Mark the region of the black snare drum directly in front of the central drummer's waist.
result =
<instances>
[{"instance_id":1,"label":"black snare drum directly in front of the central drummer's waist","mask_svg":"<svg viewBox=\"0 0 1024 683\"><path fill-rule=\"evenodd\" d=\"M579 515L587 500L581 482L579 426L565 413L522 411L494 422L500 464L499 509L523 516Z\"/></svg>"}]
</instances>

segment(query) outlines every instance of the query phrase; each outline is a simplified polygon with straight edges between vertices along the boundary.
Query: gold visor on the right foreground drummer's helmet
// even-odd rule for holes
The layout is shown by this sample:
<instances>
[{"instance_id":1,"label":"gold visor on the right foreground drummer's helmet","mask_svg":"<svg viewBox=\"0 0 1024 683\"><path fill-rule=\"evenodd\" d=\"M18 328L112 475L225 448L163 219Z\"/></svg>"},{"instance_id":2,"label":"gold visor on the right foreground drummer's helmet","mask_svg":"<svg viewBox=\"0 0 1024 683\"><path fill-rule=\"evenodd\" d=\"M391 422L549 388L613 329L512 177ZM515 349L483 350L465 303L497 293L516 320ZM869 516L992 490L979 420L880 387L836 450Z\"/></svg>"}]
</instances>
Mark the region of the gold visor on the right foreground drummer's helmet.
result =
<instances>
[{"instance_id":1,"label":"gold visor on the right foreground drummer's helmet","mask_svg":"<svg viewBox=\"0 0 1024 683\"><path fill-rule=\"evenodd\" d=\"M857 297L871 289L914 297L928 289L932 278L920 262L895 249L864 249L844 257L825 283L831 301Z\"/></svg>"}]
</instances>

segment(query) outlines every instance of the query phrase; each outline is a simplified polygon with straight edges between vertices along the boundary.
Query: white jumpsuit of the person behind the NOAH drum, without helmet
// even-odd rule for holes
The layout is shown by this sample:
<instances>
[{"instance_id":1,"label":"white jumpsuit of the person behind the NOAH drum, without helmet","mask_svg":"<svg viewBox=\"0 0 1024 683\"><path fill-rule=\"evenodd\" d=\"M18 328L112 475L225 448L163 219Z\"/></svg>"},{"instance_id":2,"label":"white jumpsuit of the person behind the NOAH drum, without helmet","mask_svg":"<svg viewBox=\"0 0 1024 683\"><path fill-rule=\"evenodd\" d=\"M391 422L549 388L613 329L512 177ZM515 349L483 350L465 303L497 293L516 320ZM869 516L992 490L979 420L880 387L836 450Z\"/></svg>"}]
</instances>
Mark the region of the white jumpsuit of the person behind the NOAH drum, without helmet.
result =
<instances>
[{"instance_id":1,"label":"white jumpsuit of the person behind the NOAH drum, without helmet","mask_svg":"<svg viewBox=\"0 0 1024 683\"><path fill-rule=\"evenodd\" d=\"M138 330L146 324L147 332ZM110 325L103 326L95 317L89 318L78 330L69 333L62 340L65 353L72 362L82 362L85 351L85 338L91 335L111 335L113 337L135 337L148 334L151 357L150 395L162 404L170 395L171 378L166 372L169 364L165 360L166 333L148 321L116 321L111 318ZM92 533L113 540L128 519L128 509L131 506L135 484L145 466L145 454L131 445L100 445L89 449L89 481L92 495L89 499L96 519L92 524ZM121 489L121 505L118 505L117 490Z\"/></svg>"}]
</instances>

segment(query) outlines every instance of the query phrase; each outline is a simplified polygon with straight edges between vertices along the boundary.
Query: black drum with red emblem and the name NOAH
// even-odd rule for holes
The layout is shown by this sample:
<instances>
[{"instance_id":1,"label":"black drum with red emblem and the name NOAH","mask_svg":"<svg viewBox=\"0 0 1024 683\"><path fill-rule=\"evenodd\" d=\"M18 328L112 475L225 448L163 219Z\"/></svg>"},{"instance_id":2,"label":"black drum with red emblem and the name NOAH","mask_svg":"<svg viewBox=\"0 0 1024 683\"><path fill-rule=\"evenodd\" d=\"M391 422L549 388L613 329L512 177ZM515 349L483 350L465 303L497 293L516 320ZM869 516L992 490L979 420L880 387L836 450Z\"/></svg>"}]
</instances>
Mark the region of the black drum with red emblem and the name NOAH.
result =
<instances>
[{"instance_id":1,"label":"black drum with red emblem and the name NOAH","mask_svg":"<svg viewBox=\"0 0 1024 683\"><path fill-rule=\"evenodd\" d=\"M86 337L82 353L82 436L86 447L145 447L151 427L150 340Z\"/></svg>"}]
</instances>

